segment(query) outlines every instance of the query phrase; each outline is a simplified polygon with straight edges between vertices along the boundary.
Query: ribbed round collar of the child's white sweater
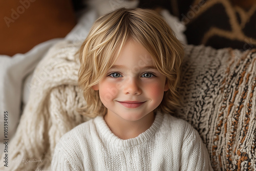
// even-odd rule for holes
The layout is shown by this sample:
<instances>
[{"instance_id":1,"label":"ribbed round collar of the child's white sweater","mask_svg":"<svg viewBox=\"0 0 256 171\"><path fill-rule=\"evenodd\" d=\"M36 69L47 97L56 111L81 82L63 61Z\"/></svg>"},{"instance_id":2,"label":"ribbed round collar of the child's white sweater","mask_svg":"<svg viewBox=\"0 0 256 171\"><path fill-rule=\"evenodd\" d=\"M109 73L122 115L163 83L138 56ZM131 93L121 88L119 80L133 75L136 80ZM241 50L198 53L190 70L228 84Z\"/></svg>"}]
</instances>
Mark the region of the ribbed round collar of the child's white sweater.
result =
<instances>
[{"instance_id":1,"label":"ribbed round collar of the child's white sweater","mask_svg":"<svg viewBox=\"0 0 256 171\"><path fill-rule=\"evenodd\" d=\"M114 135L111 130L109 129L109 126L106 124L106 122L103 119L103 116L98 116L95 118L95 125L97 127L97 131L104 140L109 142L110 144L113 144L117 147L130 147L139 145L141 143L144 143L148 139L150 139L159 129L160 125L163 121L163 114L157 113L155 120L151 127L147 129L145 132L141 133L135 138L123 140L118 138L116 135Z\"/></svg>"}]
</instances>

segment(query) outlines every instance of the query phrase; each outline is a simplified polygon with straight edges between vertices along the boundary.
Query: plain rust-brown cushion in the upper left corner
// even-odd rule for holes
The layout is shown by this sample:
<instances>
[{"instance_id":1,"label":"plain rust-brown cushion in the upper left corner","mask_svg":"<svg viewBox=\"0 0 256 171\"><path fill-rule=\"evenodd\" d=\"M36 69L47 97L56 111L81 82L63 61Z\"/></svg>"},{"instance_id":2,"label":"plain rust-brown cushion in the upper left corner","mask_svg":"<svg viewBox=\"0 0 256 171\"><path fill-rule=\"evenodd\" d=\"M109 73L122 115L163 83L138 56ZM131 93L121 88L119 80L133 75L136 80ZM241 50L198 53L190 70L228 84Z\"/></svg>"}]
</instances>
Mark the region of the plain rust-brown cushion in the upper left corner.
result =
<instances>
[{"instance_id":1,"label":"plain rust-brown cushion in the upper left corner","mask_svg":"<svg viewBox=\"0 0 256 171\"><path fill-rule=\"evenodd\" d=\"M1 1L0 54L26 53L46 40L65 37L76 24L70 0Z\"/></svg>"}]
</instances>

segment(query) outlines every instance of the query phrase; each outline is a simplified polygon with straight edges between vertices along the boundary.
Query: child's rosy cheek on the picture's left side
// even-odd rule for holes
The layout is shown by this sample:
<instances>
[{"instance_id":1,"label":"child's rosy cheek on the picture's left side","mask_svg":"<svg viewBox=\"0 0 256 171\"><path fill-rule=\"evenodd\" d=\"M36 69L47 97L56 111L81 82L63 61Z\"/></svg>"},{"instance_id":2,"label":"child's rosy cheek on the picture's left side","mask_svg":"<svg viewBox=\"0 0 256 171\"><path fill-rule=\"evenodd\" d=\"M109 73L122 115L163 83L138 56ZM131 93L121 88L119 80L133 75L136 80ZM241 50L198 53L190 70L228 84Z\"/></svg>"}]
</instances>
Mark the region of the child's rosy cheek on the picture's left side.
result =
<instances>
[{"instance_id":1,"label":"child's rosy cheek on the picture's left side","mask_svg":"<svg viewBox=\"0 0 256 171\"><path fill-rule=\"evenodd\" d=\"M113 100L118 93L118 89L116 87L116 83L113 82L100 82L99 83L99 96L102 103L108 103Z\"/></svg>"}]
</instances>

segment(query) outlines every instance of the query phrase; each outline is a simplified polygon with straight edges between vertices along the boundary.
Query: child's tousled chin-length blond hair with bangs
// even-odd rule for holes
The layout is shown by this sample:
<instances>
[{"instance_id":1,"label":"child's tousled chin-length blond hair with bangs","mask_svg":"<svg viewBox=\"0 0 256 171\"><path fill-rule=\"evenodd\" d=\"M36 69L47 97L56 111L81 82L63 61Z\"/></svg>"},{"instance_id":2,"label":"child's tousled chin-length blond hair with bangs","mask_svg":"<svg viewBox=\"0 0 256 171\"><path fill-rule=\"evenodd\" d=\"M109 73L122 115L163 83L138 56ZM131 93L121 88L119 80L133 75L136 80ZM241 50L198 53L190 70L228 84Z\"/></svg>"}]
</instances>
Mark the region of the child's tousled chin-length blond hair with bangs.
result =
<instances>
[{"instance_id":1,"label":"child's tousled chin-length blond hair with bangs","mask_svg":"<svg viewBox=\"0 0 256 171\"><path fill-rule=\"evenodd\" d=\"M157 110L173 113L180 104L177 87L184 53L180 41L155 11L121 8L97 19L81 45L78 85L87 101L83 108L85 115L95 117L106 113L99 92L92 87L112 67L129 39L148 50L159 72L167 78L169 90L164 92Z\"/></svg>"}]
</instances>

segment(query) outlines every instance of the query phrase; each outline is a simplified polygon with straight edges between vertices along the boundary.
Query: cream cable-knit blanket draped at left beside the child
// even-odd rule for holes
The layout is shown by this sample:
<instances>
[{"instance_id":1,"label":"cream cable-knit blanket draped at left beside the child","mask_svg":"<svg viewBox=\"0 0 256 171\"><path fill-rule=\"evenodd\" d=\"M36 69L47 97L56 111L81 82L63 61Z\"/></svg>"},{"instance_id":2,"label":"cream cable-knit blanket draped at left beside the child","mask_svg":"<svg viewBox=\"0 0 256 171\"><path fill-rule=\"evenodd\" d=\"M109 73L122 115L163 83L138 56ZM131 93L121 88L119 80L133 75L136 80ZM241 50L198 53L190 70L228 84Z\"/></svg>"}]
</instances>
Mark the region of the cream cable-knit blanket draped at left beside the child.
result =
<instances>
[{"instance_id":1,"label":"cream cable-knit blanket draped at left beside the child","mask_svg":"<svg viewBox=\"0 0 256 171\"><path fill-rule=\"evenodd\" d=\"M61 41L38 64L29 101L8 147L8 167L1 157L0 170L49 170L60 137L87 120L75 110L86 104L77 87L79 60L74 56L79 46Z\"/></svg>"}]
</instances>

